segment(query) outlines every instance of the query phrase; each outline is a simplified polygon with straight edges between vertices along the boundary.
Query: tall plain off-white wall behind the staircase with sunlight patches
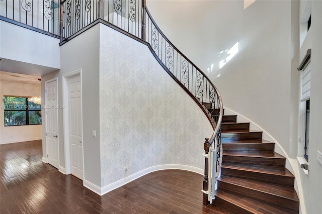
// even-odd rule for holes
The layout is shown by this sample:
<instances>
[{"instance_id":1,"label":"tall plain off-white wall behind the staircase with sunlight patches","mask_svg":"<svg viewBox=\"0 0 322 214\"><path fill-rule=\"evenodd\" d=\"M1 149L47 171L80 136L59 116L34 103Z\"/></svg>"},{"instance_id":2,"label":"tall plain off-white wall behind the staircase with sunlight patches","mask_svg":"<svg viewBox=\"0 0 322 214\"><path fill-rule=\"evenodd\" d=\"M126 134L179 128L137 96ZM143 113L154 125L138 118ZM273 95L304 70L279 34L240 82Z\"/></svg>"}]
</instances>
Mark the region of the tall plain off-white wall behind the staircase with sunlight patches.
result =
<instances>
[{"instance_id":1,"label":"tall plain off-white wall behind the staircase with sunlight patches","mask_svg":"<svg viewBox=\"0 0 322 214\"><path fill-rule=\"evenodd\" d=\"M256 1L245 10L243 1L147 1L147 7L214 81L224 106L256 122L288 153L291 1ZM236 42L238 53L219 69L220 52Z\"/></svg>"}]
</instances>

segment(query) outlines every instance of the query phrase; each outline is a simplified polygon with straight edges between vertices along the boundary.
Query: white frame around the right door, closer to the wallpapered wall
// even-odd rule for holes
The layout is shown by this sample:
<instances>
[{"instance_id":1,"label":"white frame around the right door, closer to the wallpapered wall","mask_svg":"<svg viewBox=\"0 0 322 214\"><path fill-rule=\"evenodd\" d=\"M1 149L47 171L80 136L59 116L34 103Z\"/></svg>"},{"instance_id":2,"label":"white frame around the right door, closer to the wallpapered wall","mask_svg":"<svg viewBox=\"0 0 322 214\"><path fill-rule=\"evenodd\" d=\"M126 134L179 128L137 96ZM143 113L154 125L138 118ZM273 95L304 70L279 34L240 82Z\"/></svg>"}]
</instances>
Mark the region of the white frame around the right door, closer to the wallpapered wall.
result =
<instances>
[{"instance_id":1,"label":"white frame around the right door, closer to the wallpapered wall","mask_svg":"<svg viewBox=\"0 0 322 214\"><path fill-rule=\"evenodd\" d=\"M65 148L65 170L66 174L71 174L71 161L70 161L70 144L69 144L69 103L68 103L68 79L79 75L81 78L81 96L82 96L82 106L81 106L81 120L82 120L82 153L83 153L83 180L85 179L85 169L84 169L84 136L83 136L83 78L82 69L72 71L70 73L64 74L62 76L62 94L63 94L63 126L64 126L64 148Z\"/></svg>"}]
</instances>

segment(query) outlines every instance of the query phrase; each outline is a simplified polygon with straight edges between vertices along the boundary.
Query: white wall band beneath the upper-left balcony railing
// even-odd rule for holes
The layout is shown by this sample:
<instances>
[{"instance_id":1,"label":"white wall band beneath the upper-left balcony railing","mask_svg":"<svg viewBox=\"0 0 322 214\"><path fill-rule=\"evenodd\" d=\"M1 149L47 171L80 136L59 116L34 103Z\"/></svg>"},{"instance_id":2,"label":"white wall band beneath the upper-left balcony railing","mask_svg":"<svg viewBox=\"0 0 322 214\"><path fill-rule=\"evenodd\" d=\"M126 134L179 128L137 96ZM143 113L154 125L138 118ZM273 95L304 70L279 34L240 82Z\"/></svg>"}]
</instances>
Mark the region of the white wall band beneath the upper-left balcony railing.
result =
<instances>
[{"instance_id":1,"label":"white wall band beneath the upper-left balcony railing","mask_svg":"<svg viewBox=\"0 0 322 214\"><path fill-rule=\"evenodd\" d=\"M60 68L59 39L0 21L0 57Z\"/></svg>"}]
</instances>

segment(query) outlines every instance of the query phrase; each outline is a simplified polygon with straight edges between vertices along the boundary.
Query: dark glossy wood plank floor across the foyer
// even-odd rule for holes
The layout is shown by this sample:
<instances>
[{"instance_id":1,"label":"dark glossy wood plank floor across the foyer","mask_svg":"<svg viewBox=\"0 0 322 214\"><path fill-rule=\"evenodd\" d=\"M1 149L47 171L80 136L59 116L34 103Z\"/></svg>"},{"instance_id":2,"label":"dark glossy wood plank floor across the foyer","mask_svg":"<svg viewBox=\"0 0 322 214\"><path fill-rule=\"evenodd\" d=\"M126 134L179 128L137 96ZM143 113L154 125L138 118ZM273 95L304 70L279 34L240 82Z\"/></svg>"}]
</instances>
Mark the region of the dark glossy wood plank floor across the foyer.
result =
<instances>
[{"instance_id":1,"label":"dark glossy wood plank floor across the foyer","mask_svg":"<svg viewBox=\"0 0 322 214\"><path fill-rule=\"evenodd\" d=\"M157 171L99 196L41 158L41 141L0 146L1 214L229 213L215 205L202 205L200 174Z\"/></svg>"}]
</instances>

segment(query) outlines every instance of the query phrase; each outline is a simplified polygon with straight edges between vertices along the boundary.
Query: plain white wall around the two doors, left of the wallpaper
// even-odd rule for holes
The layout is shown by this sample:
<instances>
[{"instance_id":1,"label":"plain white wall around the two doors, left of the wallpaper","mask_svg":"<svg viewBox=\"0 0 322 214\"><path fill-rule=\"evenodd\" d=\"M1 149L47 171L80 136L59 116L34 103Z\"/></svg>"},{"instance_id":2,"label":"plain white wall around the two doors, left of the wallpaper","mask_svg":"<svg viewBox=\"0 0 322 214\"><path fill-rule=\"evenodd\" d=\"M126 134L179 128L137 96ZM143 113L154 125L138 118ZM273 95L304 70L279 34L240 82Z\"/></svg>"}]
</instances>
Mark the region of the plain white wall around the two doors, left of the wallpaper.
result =
<instances>
[{"instance_id":1,"label":"plain white wall around the two doors, left of the wallpaper","mask_svg":"<svg viewBox=\"0 0 322 214\"><path fill-rule=\"evenodd\" d=\"M99 118L99 26L94 26L64 45L60 46L61 69L42 76L42 88L46 80L58 77L58 103L62 99L62 75L82 69L82 108L83 108L83 147L84 180L101 185L100 163L100 118ZM44 90L43 90L44 91ZM43 97L45 94L43 92ZM43 99L43 104L44 103ZM45 120L43 139L45 139ZM98 137L92 137L92 130ZM65 168L63 109L58 109L59 168ZM43 141L43 157L46 157L46 144Z\"/></svg>"}]
</instances>

